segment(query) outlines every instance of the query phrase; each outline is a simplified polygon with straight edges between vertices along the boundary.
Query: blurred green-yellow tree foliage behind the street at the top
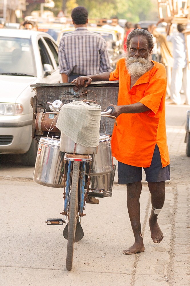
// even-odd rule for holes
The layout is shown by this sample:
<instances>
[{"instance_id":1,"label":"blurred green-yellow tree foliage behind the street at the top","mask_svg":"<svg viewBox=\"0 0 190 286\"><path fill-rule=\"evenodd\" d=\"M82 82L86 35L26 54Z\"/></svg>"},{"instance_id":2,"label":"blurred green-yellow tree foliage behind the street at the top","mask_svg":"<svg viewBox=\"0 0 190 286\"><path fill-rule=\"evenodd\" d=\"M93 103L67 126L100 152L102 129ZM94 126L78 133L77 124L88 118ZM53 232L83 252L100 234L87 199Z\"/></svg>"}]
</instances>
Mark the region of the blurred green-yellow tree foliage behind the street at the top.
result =
<instances>
[{"instance_id":1,"label":"blurred green-yellow tree foliage behind the street at the top","mask_svg":"<svg viewBox=\"0 0 190 286\"><path fill-rule=\"evenodd\" d=\"M54 3L55 7L51 11L55 16L60 10L71 14L72 9L77 6L86 7L91 19L109 19L112 16L117 16L119 19L137 23L140 20L157 20L158 16L156 0L54 0ZM36 9L35 4L28 6ZM31 13L31 9L29 9L29 13Z\"/></svg>"}]
</instances>

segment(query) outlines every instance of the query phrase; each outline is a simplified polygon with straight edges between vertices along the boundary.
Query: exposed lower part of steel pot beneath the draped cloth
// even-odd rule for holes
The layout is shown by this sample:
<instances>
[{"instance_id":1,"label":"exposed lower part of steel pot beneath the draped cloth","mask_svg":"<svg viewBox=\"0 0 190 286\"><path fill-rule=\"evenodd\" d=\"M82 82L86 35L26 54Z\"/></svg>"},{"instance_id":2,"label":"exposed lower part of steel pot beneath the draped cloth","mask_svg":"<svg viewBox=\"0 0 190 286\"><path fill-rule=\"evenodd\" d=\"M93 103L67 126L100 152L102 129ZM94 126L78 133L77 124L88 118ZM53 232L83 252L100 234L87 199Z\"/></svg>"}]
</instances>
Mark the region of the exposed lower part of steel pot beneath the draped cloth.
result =
<instances>
[{"instance_id":1,"label":"exposed lower part of steel pot beneath the draped cloth","mask_svg":"<svg viewBox=\"0 0 190 286\"><path fill-rule=\"evenodd\" d=\"M98 147L85 147L75 144L67 135L61 132L60 151L76 154L96 154Z\"/></svg>"}]
</instances>

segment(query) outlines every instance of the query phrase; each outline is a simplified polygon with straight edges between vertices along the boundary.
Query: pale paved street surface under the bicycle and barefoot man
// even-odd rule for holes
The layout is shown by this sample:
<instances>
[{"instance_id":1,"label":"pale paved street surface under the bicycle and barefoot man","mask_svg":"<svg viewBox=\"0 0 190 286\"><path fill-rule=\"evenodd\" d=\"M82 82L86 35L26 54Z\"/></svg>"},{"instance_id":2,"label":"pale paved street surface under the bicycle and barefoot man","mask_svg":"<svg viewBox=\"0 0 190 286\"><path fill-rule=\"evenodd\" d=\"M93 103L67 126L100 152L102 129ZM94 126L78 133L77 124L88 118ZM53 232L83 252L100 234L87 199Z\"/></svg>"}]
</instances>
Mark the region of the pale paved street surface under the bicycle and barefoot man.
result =
<instances>
[{"instance_id":1,"label":"pale paved street surface under the bicycle and barefoot man","mask_svg":"<svg viewBox=\"0 0 190 286\"><path fill-rule=\"evenodd\" d=\"M2 286L188 286L190 285L190 158L185 156L185 112L190 106L166 105L171 181L159 215L164 234L160 244L150 237L151 200L143 180L141 227L145 252L123 255L133 244L126 208L126 186L113 187L111 198L86 206L84 237L75 243L73 269L66 270L67 241L63 228L45 220L61 217L62 189L32 181L33 168L17 155L1 155ZM115 181L117 178L115 179Z\"/></svg>"}]
</instances>

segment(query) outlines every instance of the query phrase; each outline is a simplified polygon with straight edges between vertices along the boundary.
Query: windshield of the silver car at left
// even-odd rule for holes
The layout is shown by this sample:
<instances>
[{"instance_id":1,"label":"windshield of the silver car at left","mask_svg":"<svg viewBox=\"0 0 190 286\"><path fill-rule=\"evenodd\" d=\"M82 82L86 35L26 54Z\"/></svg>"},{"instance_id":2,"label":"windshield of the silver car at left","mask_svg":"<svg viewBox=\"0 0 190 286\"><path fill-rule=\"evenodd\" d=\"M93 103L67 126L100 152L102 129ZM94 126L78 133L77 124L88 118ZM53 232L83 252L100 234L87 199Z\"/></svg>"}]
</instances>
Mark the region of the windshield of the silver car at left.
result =
<instances>
[{"instance_id":1,"label":"windshield of the silver car at left","mask_svg":"<svg viewBox=\"0 0 190 286\"><path fill-rule=\"evenodd\" d=\"M35 76L30 39L0 37L0 74Z\"/></svg>"}]
</instances>

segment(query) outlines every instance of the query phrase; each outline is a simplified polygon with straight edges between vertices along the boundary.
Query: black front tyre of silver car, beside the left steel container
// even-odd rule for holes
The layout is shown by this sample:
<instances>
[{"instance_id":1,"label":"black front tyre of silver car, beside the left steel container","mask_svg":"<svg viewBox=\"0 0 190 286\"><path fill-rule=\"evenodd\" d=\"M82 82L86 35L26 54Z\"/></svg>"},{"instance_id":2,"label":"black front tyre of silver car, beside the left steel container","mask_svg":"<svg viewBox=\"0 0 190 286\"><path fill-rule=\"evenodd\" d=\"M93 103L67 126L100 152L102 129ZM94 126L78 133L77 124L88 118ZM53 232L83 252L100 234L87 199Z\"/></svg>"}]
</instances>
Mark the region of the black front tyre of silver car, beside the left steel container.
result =
<instances>
[{"instance_id":1,"label":"black front tyre of silver car, beside the left steel container","mask_svg":"<svg viewBox=\"0 0 190 286\"><path fill-rule=\"evenodd\" d=\"M35 166L36 155L38 150L38 143L35 142L35 139L32 139L32 143L28 152L25 154L20 154L21 163L24 166Z\"/></svg>"}]
</instances>

